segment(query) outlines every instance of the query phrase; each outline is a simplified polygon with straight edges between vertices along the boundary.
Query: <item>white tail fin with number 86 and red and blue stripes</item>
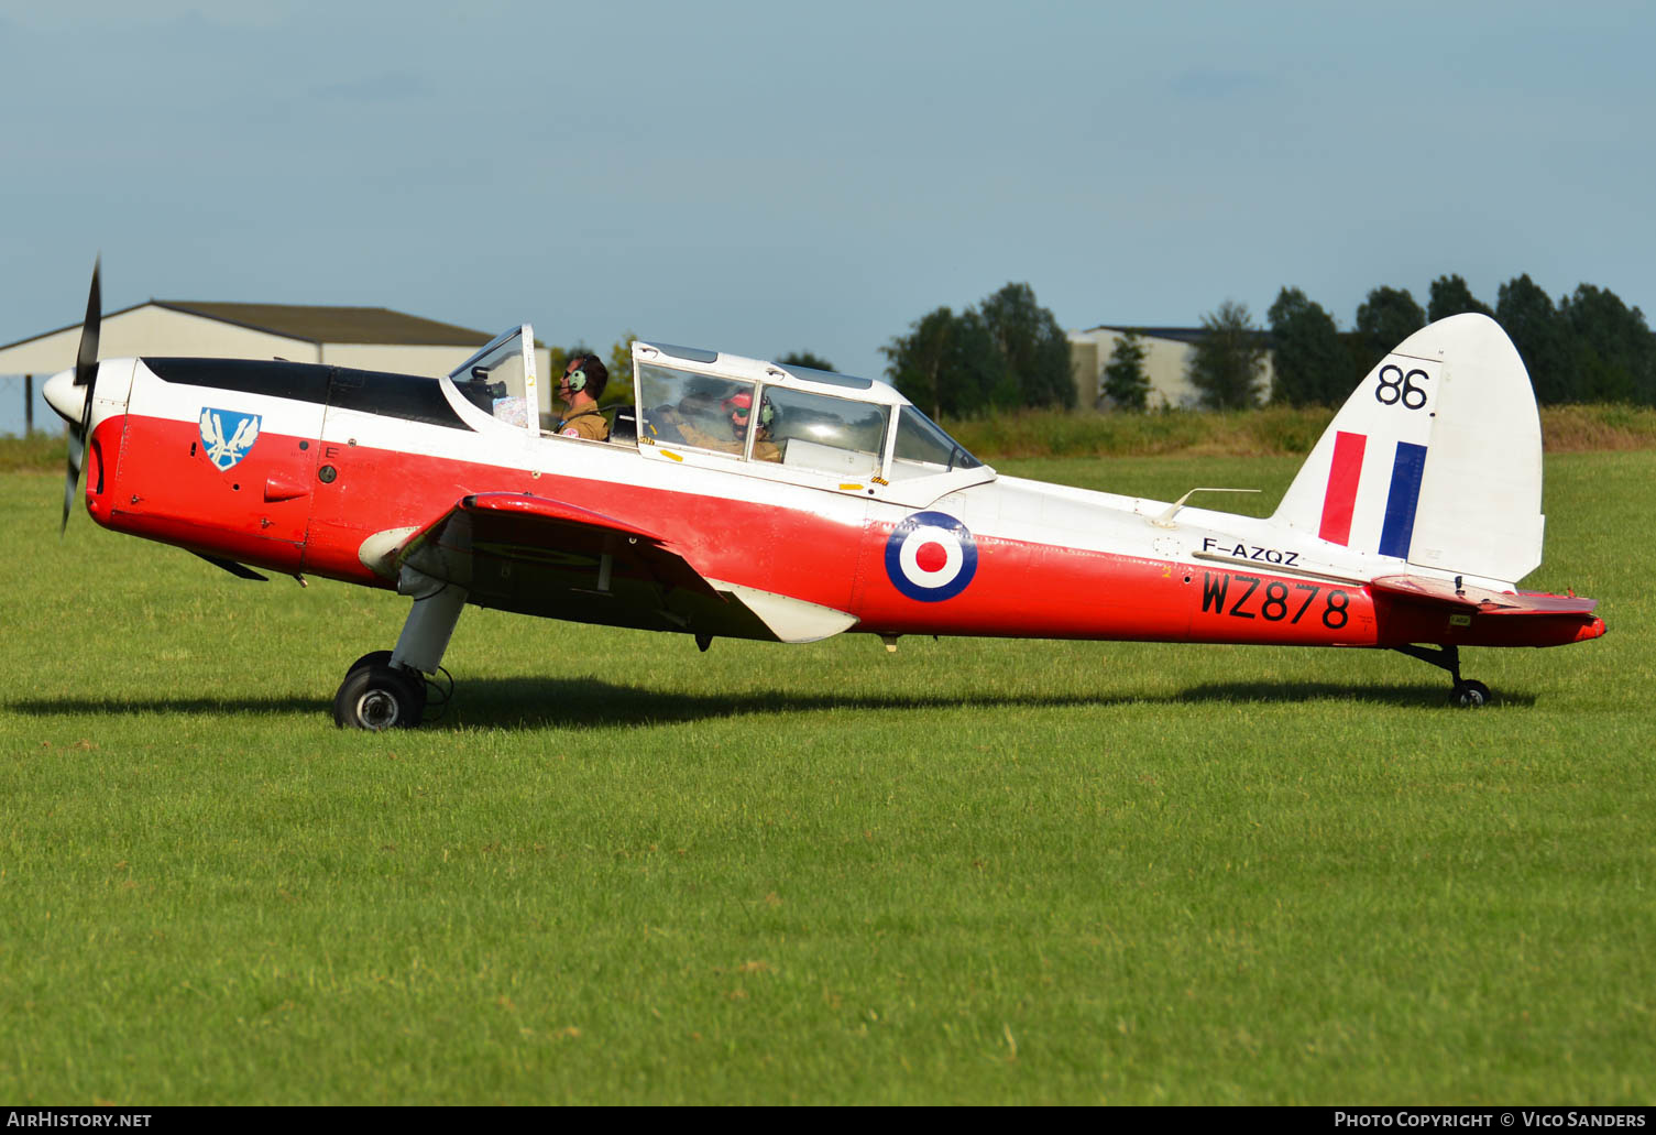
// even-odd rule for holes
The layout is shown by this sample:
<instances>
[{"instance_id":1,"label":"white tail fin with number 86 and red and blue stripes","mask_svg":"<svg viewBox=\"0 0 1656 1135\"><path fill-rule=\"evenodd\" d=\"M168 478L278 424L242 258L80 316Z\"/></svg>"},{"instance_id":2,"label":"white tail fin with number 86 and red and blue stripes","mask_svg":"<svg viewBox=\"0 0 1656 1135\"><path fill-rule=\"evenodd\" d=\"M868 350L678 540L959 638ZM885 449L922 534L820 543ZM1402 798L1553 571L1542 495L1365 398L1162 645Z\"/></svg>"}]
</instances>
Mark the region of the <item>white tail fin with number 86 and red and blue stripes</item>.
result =
<instances>
[{"instance_id":1,"label":"white tail fin with number 86 and red and blue stripes","mask_svg":"<svg viewBox=\"0 0 1656 1135\"><path fill-rule=\"evenodd\" d=\"M1542 562L1542 427L1484 315L1421 328L1358 384L1273 517L1353 552L1517 582Z\"/></svg>"}]
</instances>

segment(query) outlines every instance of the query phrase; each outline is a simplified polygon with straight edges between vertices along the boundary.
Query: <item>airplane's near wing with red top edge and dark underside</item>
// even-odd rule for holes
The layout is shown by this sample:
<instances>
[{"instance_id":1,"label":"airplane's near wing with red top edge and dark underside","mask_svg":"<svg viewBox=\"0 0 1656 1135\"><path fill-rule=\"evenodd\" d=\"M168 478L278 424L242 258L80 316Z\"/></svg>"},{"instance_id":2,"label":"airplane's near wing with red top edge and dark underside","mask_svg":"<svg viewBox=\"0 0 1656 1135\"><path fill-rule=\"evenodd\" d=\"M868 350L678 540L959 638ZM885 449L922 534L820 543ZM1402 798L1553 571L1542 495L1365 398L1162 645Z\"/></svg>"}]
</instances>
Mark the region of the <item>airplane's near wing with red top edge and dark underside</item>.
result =
<instances>
[{"instance_id":1,"label":"airplane's near wing with red top edge and dark underside","mask_svg":"<svg viewBox=\"0 0 1656 1135\"><path fill-rule=\"evenodd\" d=\"M813 638L856 621L788 596L715 583L656 532L532 494L462 497L424 529L371 537L361 555L381 575L401 577L404 592L427 577L464 587L479 606L581 623L803 641L798 626L806 618L813 631L831 623Z\"/></svg>"}]
</instances>

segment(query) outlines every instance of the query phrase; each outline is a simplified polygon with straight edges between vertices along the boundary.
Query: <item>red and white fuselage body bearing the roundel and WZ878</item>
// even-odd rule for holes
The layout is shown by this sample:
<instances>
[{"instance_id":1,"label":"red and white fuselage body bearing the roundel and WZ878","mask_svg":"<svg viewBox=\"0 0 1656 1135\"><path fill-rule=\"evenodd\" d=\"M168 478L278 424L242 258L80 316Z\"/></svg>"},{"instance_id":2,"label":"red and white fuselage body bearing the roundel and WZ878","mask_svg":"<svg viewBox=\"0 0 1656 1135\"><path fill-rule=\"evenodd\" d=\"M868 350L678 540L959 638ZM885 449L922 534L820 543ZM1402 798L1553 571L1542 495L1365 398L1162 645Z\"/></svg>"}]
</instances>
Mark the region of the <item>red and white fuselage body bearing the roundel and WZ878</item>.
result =
<instances>
[{"instance_id":1,"label":"red and white fuselage body bearing the roundel and WZ878","mask_svg":"<svg viewBox=\"0 0 1656 1135\"><path fill-rule=\"evenodd\" d=\"M1368 587L1384 562L1268 520L987 467L931 487L836 479L479 421L447 379L215 360L101 368L86 466L98 524L283 573L394 588L373 548L459 499L505 492L654 532L719 588L788 596L878 635L1320 646L1581 636L1578 621L1398 606ZM601 603L487 605L697 630Z\"/></svg>"}]
</instances>

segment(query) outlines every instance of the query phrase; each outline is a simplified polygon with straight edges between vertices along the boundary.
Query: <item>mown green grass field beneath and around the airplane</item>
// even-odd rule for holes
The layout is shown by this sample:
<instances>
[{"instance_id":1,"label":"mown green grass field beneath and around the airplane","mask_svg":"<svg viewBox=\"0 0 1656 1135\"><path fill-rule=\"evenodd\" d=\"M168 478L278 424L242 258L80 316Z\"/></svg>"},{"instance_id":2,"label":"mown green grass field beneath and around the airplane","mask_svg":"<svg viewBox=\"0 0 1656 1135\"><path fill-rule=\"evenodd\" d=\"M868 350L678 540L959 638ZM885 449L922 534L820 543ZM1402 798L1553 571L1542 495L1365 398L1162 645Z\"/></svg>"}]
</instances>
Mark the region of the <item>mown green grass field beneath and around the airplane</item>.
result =
<instances>
[{"instance_id":1,"label":"mown green grass field beneath and around the airplane","mask_svg":"<svg viewBox=\"0 0 1656 1135\"><path fill-rule=\"evenodd\" d=\"M1172 499L1293 459L1042 459ZM1656 452L1547 461L1610 635L813 646L243 583L0 476L0 1100L1656 1100Z\"/></svg>"}]
</instances>

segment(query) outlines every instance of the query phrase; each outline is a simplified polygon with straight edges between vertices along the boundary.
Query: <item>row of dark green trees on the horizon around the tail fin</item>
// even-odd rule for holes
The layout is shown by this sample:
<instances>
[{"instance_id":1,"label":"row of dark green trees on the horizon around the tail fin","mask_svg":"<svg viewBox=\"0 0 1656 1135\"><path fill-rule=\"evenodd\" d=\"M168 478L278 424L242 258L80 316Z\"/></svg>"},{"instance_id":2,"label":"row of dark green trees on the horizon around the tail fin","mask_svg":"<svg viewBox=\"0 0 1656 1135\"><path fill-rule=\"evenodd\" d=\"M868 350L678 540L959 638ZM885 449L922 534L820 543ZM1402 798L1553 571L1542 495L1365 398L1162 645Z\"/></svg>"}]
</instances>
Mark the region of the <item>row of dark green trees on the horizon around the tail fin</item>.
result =
<instances>
[{"instance_id":1,"label":"row of dark green trees on the horizon around the tail fin","mask_svg":"<svg viewBox=\"0 0 1656 1135\"><path fill-rule=\"evenodd\" d=\"M1278 292L1265 328L1245 305L1227 300L1202 316L1187 378L1212 409L1257 406L1267 394L1290 406L1340 406L1398 343L1466 312L1494 316L1505 328L1542 404L1656 406L1656 333L1644 313L1591 283L1555 303L1528 275L1500 285L1494 307L1459 275L1432 280L1424 310L1408 288L1378 287L1346 331L1295 287ZM1068 336L1028 283L1009 283L959 313L936 308L879 350L893 384L934 418L1076 403ZM1116 341L1101 389L1111 408L1148 406L1146 356L1139 333Z\"/></svg>"}]
</instances>

